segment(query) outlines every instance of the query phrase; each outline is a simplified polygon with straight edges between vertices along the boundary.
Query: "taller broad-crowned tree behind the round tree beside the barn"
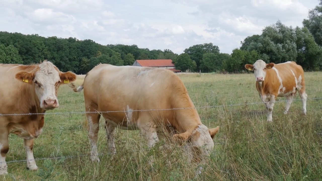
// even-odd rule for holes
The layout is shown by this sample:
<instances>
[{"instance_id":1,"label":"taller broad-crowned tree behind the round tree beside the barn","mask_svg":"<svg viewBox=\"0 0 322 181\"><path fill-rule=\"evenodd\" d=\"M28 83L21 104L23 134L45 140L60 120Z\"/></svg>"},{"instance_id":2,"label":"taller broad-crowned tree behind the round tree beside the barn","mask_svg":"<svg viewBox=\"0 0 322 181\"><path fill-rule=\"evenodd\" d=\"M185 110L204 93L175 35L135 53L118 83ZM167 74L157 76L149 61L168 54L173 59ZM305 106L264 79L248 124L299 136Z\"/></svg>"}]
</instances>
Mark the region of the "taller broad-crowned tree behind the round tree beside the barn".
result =
<instances>
[{"instance_id":1,"label":"taller broad-crowned tree behind the round tree beside the barn","mask_svg":"<svg viewBox=\"0 0 322 181\"><path fill-rule=\"evenodd\" d=\"M219 53L219 47L213 45L213 43L204 43L190 46L184 51L190 58L196 62L197 68L199 69L200 61L203 59L204 53Z\"/></svg>"}]
</instances>

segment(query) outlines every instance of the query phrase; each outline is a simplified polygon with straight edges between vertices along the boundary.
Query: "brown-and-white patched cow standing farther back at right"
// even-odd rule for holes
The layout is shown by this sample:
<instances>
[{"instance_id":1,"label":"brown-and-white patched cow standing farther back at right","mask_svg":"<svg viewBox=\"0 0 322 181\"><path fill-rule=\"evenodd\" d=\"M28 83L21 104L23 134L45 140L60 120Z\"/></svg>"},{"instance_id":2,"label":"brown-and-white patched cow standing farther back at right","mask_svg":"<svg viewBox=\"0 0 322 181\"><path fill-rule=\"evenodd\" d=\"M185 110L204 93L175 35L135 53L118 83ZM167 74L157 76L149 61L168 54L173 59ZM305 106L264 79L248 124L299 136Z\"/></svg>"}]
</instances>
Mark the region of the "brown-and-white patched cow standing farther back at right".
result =
<instances>
[{"instance_id":1,"label":"brown-and-white patched cow standing farther back at right","mask_svg":"<svg viewBox=\"0 0 322 181\"><path fill-rule=\"evenodd\" d=\"M286 97L286 109L284 114L289 112L289 107L298 91L303 103L303 113L306 114L306 99L304 71L295 62L269 63L257 60L253 65L246 64L245 68L254 71L256 89L260 99L268 109L268 121L272 121L274 102L277 97Z\"/></svg>"}]
</instances>

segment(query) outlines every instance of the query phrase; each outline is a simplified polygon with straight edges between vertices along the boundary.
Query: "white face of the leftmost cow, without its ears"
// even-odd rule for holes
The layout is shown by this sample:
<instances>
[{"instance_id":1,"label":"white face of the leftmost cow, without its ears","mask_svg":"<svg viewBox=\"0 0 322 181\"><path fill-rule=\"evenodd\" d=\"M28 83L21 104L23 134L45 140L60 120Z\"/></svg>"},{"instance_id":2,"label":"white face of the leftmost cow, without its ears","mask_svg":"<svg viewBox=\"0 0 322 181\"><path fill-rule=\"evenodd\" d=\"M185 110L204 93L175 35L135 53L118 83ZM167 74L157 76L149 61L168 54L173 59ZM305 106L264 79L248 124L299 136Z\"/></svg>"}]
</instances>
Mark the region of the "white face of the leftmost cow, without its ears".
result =
<instances>
[{"instance_id":1,"label":"white face of the leftmost cow, without its ears","mask_svg":"<svg viewBox=\"0 0 322 181\"><path fill-rule=\"evenodd\" d=\"M59 72L50 62L39 64L39 68L39 71L35 73L33 83L40 101L40 108L52 110L59 107L56 97L56 86L60 83Z\"/></svg>"}]
</instances>

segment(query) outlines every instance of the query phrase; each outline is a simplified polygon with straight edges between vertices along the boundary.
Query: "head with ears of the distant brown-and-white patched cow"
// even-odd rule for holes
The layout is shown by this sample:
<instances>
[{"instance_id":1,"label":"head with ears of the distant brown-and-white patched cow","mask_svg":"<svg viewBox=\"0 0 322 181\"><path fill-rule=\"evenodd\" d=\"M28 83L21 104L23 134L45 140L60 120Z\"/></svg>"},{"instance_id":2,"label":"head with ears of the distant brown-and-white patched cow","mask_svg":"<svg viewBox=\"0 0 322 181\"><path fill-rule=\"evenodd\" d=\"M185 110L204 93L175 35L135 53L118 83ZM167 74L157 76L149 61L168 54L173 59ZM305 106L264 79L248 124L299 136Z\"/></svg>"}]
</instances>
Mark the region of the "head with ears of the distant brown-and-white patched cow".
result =
<instances>
[{"instance_id":1,"label":"head with ears of the distant brown-and-white patched cow","mask_svg":"<svg viewBox=\"0 0 322 181\"><path fill-rule=\"evenodd\" d=\"M266 64L262 60L257 60L253 65L246 64L245 68L249 71L254 71L256 81L264 81L266 77L266 70L274 67L274 63Z\"/></svg>"}]
</instances>

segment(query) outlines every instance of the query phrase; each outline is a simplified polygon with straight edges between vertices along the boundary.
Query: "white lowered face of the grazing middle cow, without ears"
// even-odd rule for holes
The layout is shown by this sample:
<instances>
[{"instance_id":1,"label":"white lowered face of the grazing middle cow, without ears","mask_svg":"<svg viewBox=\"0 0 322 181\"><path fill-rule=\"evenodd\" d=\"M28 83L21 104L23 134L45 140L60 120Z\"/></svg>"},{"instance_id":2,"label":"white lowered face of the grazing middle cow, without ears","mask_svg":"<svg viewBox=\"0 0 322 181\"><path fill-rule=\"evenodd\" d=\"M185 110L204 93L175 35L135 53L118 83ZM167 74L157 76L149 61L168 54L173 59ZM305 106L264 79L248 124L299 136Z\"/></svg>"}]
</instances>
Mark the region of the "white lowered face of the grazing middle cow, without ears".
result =
<instances>
[{"instance_id":1,"label":"white lowered face of the grazing middle cow, without ears","mask_svg":"<svg viewBox=\"0 0 322 181\"><path fill-rule=\"evenodd\" d=\"M198 125L197 129L192 132L192 135L196 135L190 138L192 145L199 148L203 156L208 156L214 146L213 139L209 134L209 129L203 124Z\"/></svg>"}]
</instances>

